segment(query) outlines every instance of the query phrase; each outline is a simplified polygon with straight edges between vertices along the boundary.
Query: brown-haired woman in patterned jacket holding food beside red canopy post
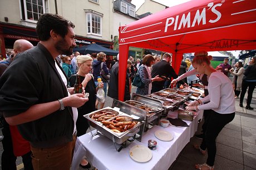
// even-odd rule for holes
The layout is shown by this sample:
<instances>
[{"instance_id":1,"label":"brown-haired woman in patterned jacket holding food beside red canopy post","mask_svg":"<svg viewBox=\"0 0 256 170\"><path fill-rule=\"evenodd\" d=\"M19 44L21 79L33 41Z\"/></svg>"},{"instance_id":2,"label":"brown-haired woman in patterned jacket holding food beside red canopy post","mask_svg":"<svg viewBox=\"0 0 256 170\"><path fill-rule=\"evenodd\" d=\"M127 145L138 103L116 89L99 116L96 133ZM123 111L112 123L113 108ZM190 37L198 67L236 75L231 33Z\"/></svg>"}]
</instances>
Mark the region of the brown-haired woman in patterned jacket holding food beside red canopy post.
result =
<instances>
[{"instance_id":1,"label":"brown-haired woman in patterned jacket holding food beside red canopy post","mask_svg":"<svg viewBox=\"0 0 256 170\"><path fill-rule=\"evenodd\" d=\"M139 68L139 75L142 83L145 84L144 87L137 87L136 94L149 95L151 94L152 82L153 81L163 81L158 75L155 78L151 78L150 66L155 63L155 59L151 54L147 54L143 60L142 65Z\"/></svg>"}]
</instances>

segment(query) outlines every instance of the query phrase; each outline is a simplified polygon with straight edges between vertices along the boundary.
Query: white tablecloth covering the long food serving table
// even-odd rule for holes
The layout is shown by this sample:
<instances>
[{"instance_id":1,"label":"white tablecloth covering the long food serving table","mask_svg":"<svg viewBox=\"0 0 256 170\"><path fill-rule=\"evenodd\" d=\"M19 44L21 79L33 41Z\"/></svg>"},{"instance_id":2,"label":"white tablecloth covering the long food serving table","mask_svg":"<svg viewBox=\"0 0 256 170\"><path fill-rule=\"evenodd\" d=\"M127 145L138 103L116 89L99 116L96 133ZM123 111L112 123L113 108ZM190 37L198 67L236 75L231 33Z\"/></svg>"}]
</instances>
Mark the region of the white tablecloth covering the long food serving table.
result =
<instances>
[{"instance_id":1,"label":"white tablecloth covering the long food serving table","mask_svg":"<svg viewBox=\"0 0 256 170\"><path fill-rule=\"evenodd\" d=\"M177 112L169 112L168 117L176 118ZM185 121L189 127L161 127L153 126L142 135L141 142L133 141L126 148L117 152L115 146L109 138L101 135L92 136L86 133L77 138L75 153L72 160L72 169L78 168L83 156L97 169L168 169L178 157L190 138L198 128L198 120L203 117L203 111L199 111L193 122ZM157 130L169 131L173 134L172 141L161 141L154 135ZM93 134L96 130L93 131ZM152 151L152 158L148 162L136 162L129 154L130 148L135 145L147 147L148 140L157 141L156 150Z\"/></svg>"}]
</instances>

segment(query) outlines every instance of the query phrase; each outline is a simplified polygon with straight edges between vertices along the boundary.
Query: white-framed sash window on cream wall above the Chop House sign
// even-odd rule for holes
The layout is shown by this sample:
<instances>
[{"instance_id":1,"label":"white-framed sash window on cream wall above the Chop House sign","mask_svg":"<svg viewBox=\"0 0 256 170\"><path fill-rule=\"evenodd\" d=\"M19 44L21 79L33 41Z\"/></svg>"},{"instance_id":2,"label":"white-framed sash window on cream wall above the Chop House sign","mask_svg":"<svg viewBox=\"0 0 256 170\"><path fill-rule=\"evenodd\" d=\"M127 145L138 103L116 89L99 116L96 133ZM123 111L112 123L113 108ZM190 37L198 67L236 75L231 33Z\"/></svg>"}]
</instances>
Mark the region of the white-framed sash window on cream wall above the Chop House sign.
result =
<instances>
[{"instance_id":1,"label":"white-framed sash window on cream wall above the Chop House sign","mask_svg":"<svg viewBox=\"0 0 256 170\"><path fill-rule=\"evenodd\" d=\"M101 35L101 16L87 13L87 33Z\"/></svg>"}]
</instances>

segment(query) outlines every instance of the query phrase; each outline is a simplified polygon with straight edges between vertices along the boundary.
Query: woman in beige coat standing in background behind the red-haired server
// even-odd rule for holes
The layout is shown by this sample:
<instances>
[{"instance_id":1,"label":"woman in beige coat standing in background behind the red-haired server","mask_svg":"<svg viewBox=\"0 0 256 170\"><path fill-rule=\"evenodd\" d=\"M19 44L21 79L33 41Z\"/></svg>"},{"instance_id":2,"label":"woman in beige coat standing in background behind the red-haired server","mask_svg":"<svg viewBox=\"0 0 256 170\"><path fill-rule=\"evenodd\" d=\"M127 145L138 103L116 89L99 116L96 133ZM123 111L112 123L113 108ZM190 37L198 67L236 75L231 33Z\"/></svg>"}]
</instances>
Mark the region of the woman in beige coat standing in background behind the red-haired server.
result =
<instances>
[{"instance_id":1,"label":"woman in beige coat standing in background behind the red-haired server","mask_svg":"<svg viewBox=\"0 0 256 170\"><path fill-rule=\"evenodd\" d=\"M235 99L238 98L240 92L241 92L241 87L242 87L242 81L243 81L243 76L244 76L244 68L243 68L243 63L241 61L238 61L235 63L235 70L232 71L229 70L231 74L233 74L233 85L234 85L234 91L235 91Z\"/></svg>"}]
</instances>

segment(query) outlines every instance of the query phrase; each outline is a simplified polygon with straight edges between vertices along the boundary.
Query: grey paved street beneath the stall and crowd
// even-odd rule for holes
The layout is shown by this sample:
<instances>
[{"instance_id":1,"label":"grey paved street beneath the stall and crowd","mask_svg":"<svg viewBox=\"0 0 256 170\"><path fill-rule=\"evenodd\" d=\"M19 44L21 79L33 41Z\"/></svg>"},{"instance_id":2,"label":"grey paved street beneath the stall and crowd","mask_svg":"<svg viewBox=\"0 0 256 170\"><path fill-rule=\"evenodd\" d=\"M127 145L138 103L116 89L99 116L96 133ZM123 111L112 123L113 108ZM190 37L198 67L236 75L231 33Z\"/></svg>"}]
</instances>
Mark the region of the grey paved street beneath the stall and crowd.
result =
<instances>
[{"instance_id":1,"label":"grey paved street beneath the stall and crowd","mask_svg":"<svg viewBox=\"0 0 256 170\"><path fill-rule=\"evenodd\" d=\"M132 87L132 92L135 90L136 87ZM247 94L245 94L245 98L247 98ZM110 97L106 97L106 106L112 106ZM251 106L256 108L255 89ZM224 127L216 140L215 169L256 169L256 110L239 107L239 99L235 99L235 107L237 110L235 119ZM198 133L200 133L200 126ZM194 164L204 163L207 156L202 156L193 148L194 143L200 142L201 140L198 138L192 137L169 170L195 169ZM0 154L2 151L0 142ZM17 169L23 169L21 157L18 157L16 163Z\"/></svg>"}]
</instances>

